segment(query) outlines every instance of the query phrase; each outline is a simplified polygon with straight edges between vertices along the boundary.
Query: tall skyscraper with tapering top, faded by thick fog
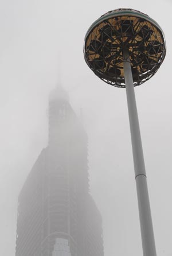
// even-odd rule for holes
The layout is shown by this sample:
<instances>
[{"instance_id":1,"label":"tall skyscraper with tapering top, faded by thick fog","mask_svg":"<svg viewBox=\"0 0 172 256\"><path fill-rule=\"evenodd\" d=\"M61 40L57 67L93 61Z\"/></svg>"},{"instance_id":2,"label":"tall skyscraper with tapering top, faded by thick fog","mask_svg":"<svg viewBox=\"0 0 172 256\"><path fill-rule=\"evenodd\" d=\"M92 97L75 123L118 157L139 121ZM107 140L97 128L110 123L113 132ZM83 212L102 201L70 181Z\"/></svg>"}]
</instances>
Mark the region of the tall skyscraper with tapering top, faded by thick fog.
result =
<instances>
[{"instance_id":1,"label":"tall skyscraper with tapering top, faded by thick fog","mask_svg":"<svg viewBox=\"0 0 172 256\"><path fill-rule=\"evenodd\" d=\"M15 256L61 255L60 248L62 255L103 256L101 216L89 194L87 134L57 87L49 97L48 146L18 197Z\"/></svg>"}]
</instances>

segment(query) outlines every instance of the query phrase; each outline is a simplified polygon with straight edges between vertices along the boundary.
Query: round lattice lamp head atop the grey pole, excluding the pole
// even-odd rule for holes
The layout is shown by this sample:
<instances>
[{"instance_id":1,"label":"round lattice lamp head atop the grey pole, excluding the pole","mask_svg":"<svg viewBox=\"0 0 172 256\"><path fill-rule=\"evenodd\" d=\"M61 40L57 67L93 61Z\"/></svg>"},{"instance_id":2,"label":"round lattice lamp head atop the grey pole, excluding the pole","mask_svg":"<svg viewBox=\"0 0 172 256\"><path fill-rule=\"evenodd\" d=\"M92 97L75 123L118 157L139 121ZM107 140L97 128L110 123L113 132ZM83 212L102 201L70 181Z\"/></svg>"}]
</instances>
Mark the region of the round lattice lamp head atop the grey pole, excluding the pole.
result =
<instances>
[{"instance_id":1,"label":"round lattice lamp head atop the grey pole, excluding the pole","mask_svg":"<svg viewBox=\"0 0 172 256\"><path fill-rule=\"evenodd\" d=\"M104 82L126 87L124 51L130 55L134 86L139 86L157 72L165 59L166 43L161 27L140 11L108 11L87 31L85 61Z\"/></svg>"}]
</instances>

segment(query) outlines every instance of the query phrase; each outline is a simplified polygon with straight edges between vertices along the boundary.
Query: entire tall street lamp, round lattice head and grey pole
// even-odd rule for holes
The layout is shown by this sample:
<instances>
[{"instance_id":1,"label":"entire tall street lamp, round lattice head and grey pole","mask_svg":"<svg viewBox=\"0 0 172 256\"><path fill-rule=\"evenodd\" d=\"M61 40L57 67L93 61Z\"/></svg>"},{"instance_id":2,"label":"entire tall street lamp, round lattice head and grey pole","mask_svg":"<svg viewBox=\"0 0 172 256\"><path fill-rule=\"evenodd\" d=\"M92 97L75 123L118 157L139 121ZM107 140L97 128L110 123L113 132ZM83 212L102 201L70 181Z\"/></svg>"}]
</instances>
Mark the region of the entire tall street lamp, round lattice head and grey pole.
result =
<instances>
[{"instance_id":1,"label":"entire tall street lamp, round lattice head and grey pole","mask_svg":"<svg viewBox=\"0 0 172 256\"><path fill-rule=\"evenodd\" d=\"M85 36L84 57L89 68L104 82L126 88L144 256L155 256L156 249L134 87L158 71L165 55L161 27L132 9L108 11Z\"/></svg>"}]
</instances>

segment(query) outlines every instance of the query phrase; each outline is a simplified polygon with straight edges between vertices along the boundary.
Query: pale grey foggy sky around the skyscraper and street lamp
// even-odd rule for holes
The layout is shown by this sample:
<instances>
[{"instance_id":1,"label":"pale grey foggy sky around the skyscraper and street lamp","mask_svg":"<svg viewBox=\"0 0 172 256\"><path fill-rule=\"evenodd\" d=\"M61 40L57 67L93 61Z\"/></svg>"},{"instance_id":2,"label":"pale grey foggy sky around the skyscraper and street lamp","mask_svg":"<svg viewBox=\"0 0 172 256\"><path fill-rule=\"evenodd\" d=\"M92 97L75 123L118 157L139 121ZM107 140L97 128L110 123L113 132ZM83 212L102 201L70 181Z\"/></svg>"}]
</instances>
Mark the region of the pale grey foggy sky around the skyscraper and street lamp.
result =
<instances>
[{"instance_id":1,"label":"pale grey foggy sky around the skyscraper and street lamp","mask_svg":"<svg viewBox=\"0 0 172 256\"><path fill-rule=\"evenodd\" d=\"M48 95L60 81L78 115L83 108L91 193L103 218L105 256L142 255L126 92L102 82L83 57L92 22L108 10L129 7L156 20L167 42L161 68L135 93L157 255L172 256L172 2L118 2L1 0L1 255L15 255L17 197L47 145Z\"/></svg>"}]
</instances>

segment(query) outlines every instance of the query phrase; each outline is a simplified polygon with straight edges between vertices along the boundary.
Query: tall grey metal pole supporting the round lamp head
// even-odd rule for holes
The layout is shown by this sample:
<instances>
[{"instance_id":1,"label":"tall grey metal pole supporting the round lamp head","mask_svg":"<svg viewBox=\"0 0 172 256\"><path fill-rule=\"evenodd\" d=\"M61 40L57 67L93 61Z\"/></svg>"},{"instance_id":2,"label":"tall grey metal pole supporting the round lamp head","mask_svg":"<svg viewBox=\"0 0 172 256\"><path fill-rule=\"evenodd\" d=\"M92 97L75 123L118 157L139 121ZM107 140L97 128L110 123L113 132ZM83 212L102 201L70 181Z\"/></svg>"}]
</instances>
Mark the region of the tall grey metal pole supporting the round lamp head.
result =
<instances>
[{"instance_id":1,"label":"tall grey metal pole supporting the round lamp head","mask_svg":"<svg viewBox=\"0 0 172 256\"><path fill-rule=\"evenodd\" d=\"M150 202L148 198L146 170L142 141L140 136L138 112L132 79L131 63L128 51L124 52L124 77L126 83L128 115L130 121L132 154L134 159L136 189L138 195L138 207L140 218L140 230L142 235L143 256L155 256L155 239L151 218Z\"/></svg>"}]
</instances>

